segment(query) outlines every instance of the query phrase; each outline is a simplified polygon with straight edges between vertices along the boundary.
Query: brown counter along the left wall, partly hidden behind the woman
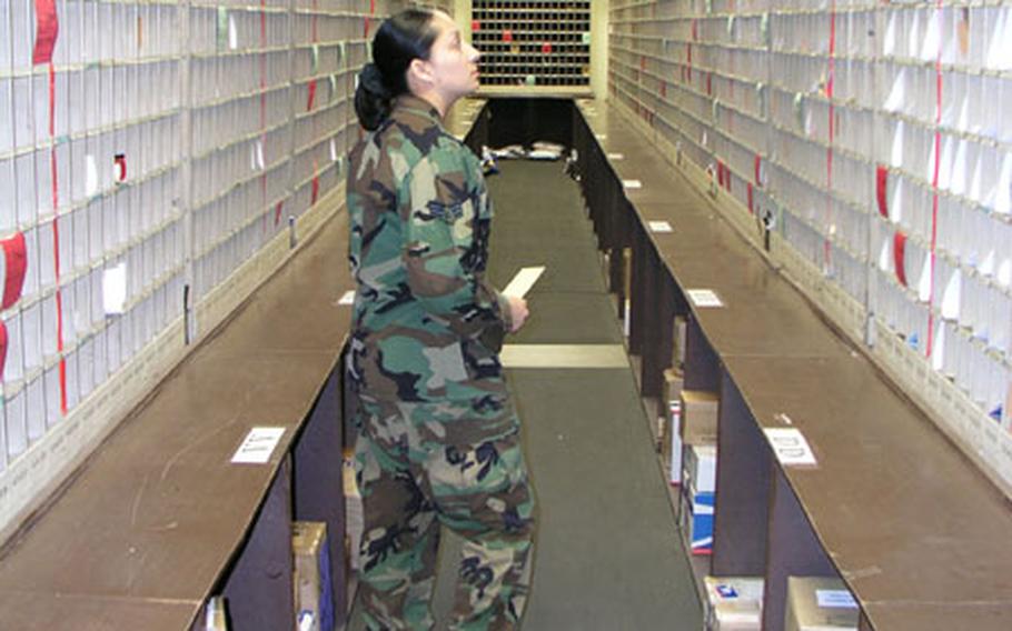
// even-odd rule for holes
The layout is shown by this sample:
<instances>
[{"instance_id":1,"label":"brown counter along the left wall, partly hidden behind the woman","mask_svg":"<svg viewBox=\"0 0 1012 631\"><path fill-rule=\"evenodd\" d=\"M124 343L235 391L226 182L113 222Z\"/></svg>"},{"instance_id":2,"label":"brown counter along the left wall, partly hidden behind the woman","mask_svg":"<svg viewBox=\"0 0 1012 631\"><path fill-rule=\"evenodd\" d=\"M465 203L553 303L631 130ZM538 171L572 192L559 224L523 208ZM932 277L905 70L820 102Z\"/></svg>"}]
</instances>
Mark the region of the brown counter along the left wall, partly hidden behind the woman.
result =
<instances>
[{"instance_id":1,"label":"brown counter along the left wall, partly hidden behind the woman","mask_svg":"<svg viewBox=\"0 0 1012 631\"><path fill-rule=\"evenodd\" d=\"M473 148L487 137L480 108L458 106L447 120ZM6 544L4 629L199 631L215 594L234 629L290 629L292 519L327 523L346 618L341 447L354 440L344 423L354 402L340 370L350 311L338 298L353 282L334 248L347 241L344 218L300 241ZM231 464L265 424L285 429L270 461Z\"/></svg>"}]
</instances>

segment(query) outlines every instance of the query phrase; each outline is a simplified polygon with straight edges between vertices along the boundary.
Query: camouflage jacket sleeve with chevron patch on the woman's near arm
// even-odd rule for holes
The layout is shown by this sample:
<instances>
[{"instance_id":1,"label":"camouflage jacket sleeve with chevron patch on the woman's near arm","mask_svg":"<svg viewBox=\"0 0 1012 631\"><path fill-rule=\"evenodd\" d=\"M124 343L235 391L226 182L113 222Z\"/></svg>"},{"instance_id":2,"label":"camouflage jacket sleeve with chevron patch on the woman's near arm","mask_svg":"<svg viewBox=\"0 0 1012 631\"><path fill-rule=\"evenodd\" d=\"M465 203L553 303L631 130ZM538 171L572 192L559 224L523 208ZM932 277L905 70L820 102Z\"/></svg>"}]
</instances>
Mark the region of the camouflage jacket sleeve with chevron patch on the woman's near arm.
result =
<instances>
[{"instance_id":1,"label":"camouflage jacket sleeve with chevron patch on the woman's near arm","mask_svg":"<svg viewBox=\"0 0 1012 631\"><path fill-rule=\"evenodd\" d=\"M460 148L434 148L410 171L404 190L404 262L413 296L462 337L489 327L509 330L508 302L484 279L490 218L483 187Z\"/></svg>"}]
</instances>

